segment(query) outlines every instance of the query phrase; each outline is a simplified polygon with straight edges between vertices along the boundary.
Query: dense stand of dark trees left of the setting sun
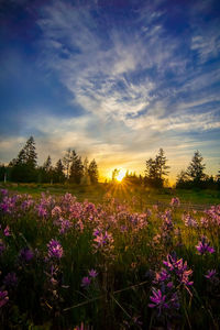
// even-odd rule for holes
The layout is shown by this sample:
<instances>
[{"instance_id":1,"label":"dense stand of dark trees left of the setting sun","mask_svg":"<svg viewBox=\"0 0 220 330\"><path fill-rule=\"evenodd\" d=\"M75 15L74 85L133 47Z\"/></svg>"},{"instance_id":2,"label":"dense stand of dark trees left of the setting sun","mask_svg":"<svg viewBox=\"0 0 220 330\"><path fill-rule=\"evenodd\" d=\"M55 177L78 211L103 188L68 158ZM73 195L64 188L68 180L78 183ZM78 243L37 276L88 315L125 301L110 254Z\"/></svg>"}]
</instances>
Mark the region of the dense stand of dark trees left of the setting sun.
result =
<instances>
[{"instance_id":1,"label":"dense stand of dark trees left of the setting sun","mask_svg":"<svg viewBox=\"0 0 220 330\"><path fill-rule=\"evenodd\" d=\"M96 161L88 162L73 150L68 150L64 158L58 160L55 166L48 155L42 166L37 165L37 153L33 136L26 141L8 166L0 165L0 180L15 183L45 183L45 184L96 184L99 172Z\"/></svg>"}]
</instances>

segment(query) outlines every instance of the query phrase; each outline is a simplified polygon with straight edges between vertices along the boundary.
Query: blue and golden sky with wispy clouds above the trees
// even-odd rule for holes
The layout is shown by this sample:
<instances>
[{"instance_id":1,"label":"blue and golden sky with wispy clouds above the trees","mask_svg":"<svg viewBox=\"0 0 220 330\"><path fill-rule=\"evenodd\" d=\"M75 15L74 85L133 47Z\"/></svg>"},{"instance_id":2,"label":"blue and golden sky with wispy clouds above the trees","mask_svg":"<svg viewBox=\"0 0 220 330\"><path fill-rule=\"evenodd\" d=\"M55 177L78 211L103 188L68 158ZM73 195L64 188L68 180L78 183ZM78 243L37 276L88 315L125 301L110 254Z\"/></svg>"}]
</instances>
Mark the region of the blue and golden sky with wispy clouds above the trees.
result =
<instances>
[{"instance_id":1,"label":"blue and golden sky with wispy clouds above the trees","mask_svg":"<svg viewBox=\"0 0 220 330\"><path fill-rule=\"evenodd\" d=\"M30 135L38 164L67 148L144 174L163 147L169 179L195 151L220 168L218 0L1 0L0 162Z\"/></svg>"}]
</instances>

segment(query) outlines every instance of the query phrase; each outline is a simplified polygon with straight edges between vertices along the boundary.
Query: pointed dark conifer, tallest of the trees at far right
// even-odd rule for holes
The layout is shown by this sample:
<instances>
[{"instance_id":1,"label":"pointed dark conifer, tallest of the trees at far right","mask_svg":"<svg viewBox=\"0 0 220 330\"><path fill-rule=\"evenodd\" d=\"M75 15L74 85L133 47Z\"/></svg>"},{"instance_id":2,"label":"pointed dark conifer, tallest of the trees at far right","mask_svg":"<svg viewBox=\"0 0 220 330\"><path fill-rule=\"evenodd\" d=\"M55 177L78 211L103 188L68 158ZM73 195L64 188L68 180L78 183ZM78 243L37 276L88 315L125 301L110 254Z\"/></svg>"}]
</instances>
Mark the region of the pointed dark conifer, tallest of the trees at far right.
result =
<instances>
[{"instance_id":1,"label":"pointed dark conifer, tallest of the trees at far right","mask_svg":"<svg viewBox=\"0 0 220 330\"><path fill-rule=\"evenodd\" d=\"M206 165L202 164L202 161L204 158L199 153L199 151L197 150L187 168L187 175L195 183L196 186L198 186L206 176L204 173Z\"/></svg>"}]
</instances>

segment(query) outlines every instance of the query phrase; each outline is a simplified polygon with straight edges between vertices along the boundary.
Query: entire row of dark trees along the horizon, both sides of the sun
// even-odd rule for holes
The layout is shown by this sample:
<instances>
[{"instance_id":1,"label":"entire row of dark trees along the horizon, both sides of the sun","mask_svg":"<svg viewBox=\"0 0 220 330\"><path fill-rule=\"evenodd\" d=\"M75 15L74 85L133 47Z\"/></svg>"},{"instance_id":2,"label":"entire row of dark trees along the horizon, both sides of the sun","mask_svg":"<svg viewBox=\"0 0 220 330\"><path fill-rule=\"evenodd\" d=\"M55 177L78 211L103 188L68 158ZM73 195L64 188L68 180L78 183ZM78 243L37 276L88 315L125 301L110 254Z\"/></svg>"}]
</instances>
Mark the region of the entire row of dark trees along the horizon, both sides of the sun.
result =
<instances>
[{"instance_id":1,"label":"entire row of dark trees along the horizon, both sides of the sun","mask_svg":"<svg viewBox=\"0 0 220 330\"><path fill-rule=\"evenodd\" d=\"M167 176L169 166L163 148L160 148L155 157L145 161L144 175L127 172L123 183L142 185L152 188L163 188L168 185ZM206 164L199 151L196 151L186 170L182 170L176 180L176 188L210 188L220 189L220 170L216 176L205 173ZM119 169L112 172L112 182L117 182ZM96 161L84 161L75 150L68 150L65 156L52 165L51 156L42 166L37 165L35 142L31 136L16 158L8 166L0 164L0 180L15 183L48 183L48 184L96 184L99 179Z\"/></svg>"}]
</instances>

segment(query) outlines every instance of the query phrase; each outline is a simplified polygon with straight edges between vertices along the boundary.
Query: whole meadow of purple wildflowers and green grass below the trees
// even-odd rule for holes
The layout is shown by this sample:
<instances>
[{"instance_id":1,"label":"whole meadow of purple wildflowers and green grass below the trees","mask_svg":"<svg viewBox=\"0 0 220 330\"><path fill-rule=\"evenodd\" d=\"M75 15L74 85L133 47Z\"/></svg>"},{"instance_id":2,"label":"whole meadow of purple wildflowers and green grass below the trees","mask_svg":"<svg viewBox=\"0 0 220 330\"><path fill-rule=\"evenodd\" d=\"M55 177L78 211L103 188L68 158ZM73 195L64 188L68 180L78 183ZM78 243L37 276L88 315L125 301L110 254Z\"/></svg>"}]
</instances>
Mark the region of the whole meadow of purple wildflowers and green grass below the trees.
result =
<instances>
[{"instance_id":1,"label":"whole meadow of purple wildflowers and green grass below the trees","mask_svg":"<svg viewBox=\"0 0 220 330\"><path fill-rule=\"evenodd\" d=\"M0 188L3 329L219 329L219 191Z\"/></svg>"}]
</instances>

